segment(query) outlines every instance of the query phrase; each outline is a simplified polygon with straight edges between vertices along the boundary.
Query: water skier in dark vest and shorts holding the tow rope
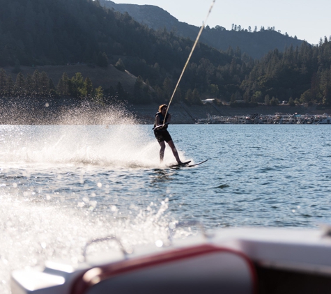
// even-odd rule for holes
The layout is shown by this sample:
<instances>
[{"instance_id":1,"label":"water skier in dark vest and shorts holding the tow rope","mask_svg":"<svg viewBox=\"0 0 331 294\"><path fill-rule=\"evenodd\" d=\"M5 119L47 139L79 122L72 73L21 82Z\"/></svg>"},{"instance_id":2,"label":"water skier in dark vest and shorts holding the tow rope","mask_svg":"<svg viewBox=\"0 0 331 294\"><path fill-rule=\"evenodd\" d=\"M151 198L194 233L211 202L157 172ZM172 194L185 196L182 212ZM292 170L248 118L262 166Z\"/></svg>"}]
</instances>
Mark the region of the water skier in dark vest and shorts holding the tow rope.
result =
<instances>
[{"instance_id":1,"label":"water skier in dark vest and shorts holding the tow rope","mask_svg":"<svg viewBox=\"0 0 331 294\"><path fill-rule=\"evenodd\" d=\"M163 157L164 157L164 149L165 149L165 143L166 141L168 145L170 146L172 153L174 153L174 157L176 158L178 164L181 164L182 162L179 159L178 152L176 150L175 144L171 139L171 136L167 130L168 125L171 121L171 114L167 113L168 105L160 105L159 107L159 112L155 114L155 123L154 123L154 134L155 138L159 142L161 149L160 149L160 162L163 162ZM164 116L167 113L167 117L165 118L164 121ZM164 125L163 125L164 123Z\"/></svg>"}]
</instances>

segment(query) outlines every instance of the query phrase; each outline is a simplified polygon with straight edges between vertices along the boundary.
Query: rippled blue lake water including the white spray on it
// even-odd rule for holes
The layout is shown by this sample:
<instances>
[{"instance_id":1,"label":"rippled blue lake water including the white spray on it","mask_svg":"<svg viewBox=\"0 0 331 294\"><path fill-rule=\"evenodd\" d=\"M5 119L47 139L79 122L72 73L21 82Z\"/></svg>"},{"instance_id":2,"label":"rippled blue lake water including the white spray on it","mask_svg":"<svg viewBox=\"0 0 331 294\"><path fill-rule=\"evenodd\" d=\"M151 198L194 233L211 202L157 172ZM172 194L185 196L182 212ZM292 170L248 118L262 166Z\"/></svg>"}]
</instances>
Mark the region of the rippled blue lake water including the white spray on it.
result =
<instances>
[{"instance_id":1,"label":"rippled blue lake water including the white spray on it","mask_svg":"<svg viewBox=\"0 0 331 294\"><path fill-rule=\"evenodd\" d=\"M330 125L170 125L181 160L151 125L0 126L0 293L10 272L79 261L87 240L167 239L169 222L311 228L331 215ZM178 238L190 235L178 231ZM114 245L100 245L109 249ZM109 248L108 248L109 247Z\"/></svg>"}]
</instances>

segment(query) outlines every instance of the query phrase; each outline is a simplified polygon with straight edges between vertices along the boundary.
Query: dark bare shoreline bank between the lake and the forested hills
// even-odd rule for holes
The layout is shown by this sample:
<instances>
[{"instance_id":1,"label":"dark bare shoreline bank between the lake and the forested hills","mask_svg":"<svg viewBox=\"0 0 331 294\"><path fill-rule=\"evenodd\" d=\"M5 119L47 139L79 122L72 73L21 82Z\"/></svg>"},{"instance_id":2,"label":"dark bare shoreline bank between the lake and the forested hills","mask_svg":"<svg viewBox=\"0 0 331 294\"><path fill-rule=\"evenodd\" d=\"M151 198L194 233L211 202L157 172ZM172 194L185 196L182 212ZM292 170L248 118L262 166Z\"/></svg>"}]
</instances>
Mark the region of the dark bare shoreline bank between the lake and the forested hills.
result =
<instances>
[{"instance_id":1,"label":"dark bare shoreline bank between the lake and the forested hills","mask_svg":"<svg viewBox=\"0 0 331 294\"><path fill-rule=\"evenodd\" d=\"M50 103L52 104L52 103ZM47 105L47 106L46 106ZM31 105L29 103L3 103L0 105L1 125L116 125L154 123L157 104L151 105L49 105L47 102ZM207 120L209 116L235 117L259 114L274 116L282 114L309 114L311 116L331 114L331 109L317 110L316 105L289 107L279 105L270 107L259 105L252 108L232 108L229 105L192 105L174 103L169 107L171 124L194 124Z\"/></svg>"}]
</instances>

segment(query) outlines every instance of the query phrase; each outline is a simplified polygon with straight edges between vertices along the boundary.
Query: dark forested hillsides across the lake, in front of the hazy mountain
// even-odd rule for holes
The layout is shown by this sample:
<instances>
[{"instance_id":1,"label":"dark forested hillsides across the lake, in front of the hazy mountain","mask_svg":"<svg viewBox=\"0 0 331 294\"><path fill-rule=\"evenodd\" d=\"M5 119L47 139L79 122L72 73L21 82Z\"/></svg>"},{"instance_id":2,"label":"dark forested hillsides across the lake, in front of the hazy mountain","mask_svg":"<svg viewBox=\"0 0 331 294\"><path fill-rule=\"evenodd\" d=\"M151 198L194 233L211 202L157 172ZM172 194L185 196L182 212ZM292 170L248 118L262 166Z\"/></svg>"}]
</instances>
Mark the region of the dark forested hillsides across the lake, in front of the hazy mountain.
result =
<instances>
[{"instance_id":1,"label":"dark forested hillsides across the lake, in front of the hazy mountain","mask_svg":"<svg viewBox=\"0 0 331 294\"><path fill-rule=\"evenodd\" d=\"M132 93L117 84L116 88L104 88L105 94L135 104L169 100L193 45L189 38L165 29L149 29L127 13L101 7L98 1L0 0L0 5L0 66L15 66L13 72L17 75L20 65L86 63L91 68L102 68L112 63L119 71L131 72L137 81ZM303 42L284 53L275 49L261 61L254 61L239 47L224 52L201 42L174 102L201 104L202 98L218 98L245 100L254 106L257 102L277 104L292 98L329 104L330 47L327 38L316 46ZM35 84L39 76L38 72L31 75ZM1 96L13 95L13 88L22 87L21 82L31 84L28 76L20 76L18 82L11 72L3 72L2 77ZM54 97L82 99L88 91L87 78L86 74L83 79L63 73L61 81L52 81L49 91ZM81 89L78 92L77 86ZM47 95L26 87L26 95ZM90 93L101 103L109 100L100 98L100 89L97 94Z\"/></svg>"}]
</instances>

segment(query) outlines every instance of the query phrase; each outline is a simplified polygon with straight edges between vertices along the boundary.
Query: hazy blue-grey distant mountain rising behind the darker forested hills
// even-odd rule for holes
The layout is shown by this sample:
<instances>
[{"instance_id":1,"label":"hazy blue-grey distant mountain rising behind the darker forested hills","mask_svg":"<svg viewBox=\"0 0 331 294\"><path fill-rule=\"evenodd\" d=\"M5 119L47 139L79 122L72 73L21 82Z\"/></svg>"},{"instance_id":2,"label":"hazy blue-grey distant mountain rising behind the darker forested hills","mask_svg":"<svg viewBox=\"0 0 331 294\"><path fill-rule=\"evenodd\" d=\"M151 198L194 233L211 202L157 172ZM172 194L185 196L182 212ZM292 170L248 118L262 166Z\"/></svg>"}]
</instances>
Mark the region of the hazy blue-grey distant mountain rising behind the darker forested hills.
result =
<instances>
[{"instance_id":1,"label":"hazy blue-grey distant mountain rising behind the darker forested hills","mask_svg":"<svg viewBox=\"0 0 331 294\"><path fill-rule=\"evenodd\" d=\"M152 29L164 29L173 31L178 36L189 37L192 40L197 38L199 27L180 22L170 15L167 11L152 5L137 5L137 4L116 4L109 0L99 0L100 5L114 9L120 13L127 12L137 22L145 24ZM266 29L256 32L243 31L228 31L222 26L216 26L213 29L207 27L201 36L201 42L206 43L216 49L226 51L231 46L233 50L239 47L242 53L252 56L254 59L260 59L262 56L270 52L270 50L278 49L284 52L286 47L300 46L302 40L284 36L272 29Z\"/></svg>"}]
</instances>

